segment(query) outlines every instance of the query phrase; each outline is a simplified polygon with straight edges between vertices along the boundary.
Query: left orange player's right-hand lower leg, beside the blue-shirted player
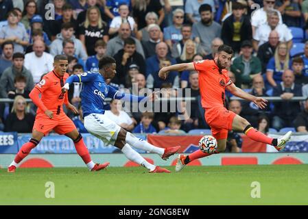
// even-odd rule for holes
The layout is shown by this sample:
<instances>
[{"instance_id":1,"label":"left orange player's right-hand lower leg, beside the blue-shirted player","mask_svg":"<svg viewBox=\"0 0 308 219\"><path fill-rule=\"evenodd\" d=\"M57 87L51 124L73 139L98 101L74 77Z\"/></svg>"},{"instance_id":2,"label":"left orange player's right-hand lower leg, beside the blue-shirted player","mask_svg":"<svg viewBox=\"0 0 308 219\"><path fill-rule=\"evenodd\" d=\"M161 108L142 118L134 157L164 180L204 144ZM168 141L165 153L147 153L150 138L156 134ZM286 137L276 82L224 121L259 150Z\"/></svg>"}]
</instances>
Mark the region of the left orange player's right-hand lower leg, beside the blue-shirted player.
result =
<instances>
[{"instance_id":1,"label":"left orange player's right-hand lower leg, beside the blue-shirted player","mask_svg":"<svg viewBox=\"0 0 308 219\"><path fill-rule=\"evenodd\" d=\"M66 134L66 136L69 136L69 138L72 138L72 139L73 139L73 136L77 136L77 135L78 137L73 140L75 144L75 149L78 155L80 155L80 157L84 161L84 164L86 164L86 166L88 167L88 170L98 171L98 170L102 170L106 168L110 164L109 162L105 162L104 164L95 164L92 161L90 153L88 153L88 149L86 148L86 144L84 144L82 135L78 133L77 129L75 129L74 131L71 131L71 133Z\"/></svg>"}]
</instances>

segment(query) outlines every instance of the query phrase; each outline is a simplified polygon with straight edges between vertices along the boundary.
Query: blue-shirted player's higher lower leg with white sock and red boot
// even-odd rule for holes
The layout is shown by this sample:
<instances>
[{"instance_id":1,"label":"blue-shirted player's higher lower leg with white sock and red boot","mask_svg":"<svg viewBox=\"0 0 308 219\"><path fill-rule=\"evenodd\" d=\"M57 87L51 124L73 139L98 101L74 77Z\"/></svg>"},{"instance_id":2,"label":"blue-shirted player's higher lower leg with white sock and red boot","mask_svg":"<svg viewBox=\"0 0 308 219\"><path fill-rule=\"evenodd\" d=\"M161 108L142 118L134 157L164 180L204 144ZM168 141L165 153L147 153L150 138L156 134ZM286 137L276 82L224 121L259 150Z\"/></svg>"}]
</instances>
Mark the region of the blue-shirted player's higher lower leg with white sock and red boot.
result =
<instances>
[{"instance_id":1,"label":"blue-shirted player's higher lower leg with white sock and red boot","mask_svg":"<svg viewBox=\"0 0 308 219\"><path fill-rule=\"evenodd\" d=\"M171 155L174 155L178 152L178 150L180 150L180 146L173 146L165 149L154 146L145 140L137 138L130 132L127 132L126 134L126 142L128 142L128 144L130 144L136 149L141 149L150 153L157 153L161 156L162 159L165 160L167 160Z\"/></svg>"}]
</instances>

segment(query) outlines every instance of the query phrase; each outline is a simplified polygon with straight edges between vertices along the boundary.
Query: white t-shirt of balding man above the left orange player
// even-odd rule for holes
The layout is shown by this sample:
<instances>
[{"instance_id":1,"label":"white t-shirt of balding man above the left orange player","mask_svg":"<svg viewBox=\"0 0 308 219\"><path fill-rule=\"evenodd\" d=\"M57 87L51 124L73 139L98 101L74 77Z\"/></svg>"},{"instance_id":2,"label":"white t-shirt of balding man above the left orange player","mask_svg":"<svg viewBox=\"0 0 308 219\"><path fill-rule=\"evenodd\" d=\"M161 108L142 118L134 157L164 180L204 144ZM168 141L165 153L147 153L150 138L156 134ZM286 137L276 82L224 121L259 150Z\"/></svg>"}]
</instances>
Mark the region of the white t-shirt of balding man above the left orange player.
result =
<instances>
[{"instance_id":1,"label":"white t-shirt of balding man above the left orange player","mask_svg":"<svg viewBox=\"0 0 308 219\"><path fill-rule=\"evenodd\" d=\"M34 52L25 54L25 68L32 73L34 83L40 82L40 77L54 69L54 57L43 52L41 57L37 57Z\"/></svg>"}]
</instances>

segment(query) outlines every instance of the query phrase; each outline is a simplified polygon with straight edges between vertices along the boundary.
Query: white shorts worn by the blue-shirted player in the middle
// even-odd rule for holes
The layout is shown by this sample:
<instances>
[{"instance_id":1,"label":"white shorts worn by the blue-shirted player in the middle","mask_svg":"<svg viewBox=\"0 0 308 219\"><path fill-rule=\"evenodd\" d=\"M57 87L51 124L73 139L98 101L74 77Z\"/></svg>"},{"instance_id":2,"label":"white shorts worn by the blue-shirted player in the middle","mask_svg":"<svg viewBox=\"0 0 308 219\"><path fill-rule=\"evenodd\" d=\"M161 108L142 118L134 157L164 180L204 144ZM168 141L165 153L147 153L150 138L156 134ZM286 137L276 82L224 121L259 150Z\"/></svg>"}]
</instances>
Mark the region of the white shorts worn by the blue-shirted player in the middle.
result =
<instances>
[{"instance_id":1,"label":"white shorts worn by the blue-shirted player in the middle","mask_svg":"<svg viewBox=\"0 0 308 219\"><path fill-rule=\"evenodd\" d=\"M115 144L117 135L121 129L117 123L110 120L104 114L89 114L84 117L84 127L96 138L102 140L106 145Z\"/></svg>"}]
</instances>

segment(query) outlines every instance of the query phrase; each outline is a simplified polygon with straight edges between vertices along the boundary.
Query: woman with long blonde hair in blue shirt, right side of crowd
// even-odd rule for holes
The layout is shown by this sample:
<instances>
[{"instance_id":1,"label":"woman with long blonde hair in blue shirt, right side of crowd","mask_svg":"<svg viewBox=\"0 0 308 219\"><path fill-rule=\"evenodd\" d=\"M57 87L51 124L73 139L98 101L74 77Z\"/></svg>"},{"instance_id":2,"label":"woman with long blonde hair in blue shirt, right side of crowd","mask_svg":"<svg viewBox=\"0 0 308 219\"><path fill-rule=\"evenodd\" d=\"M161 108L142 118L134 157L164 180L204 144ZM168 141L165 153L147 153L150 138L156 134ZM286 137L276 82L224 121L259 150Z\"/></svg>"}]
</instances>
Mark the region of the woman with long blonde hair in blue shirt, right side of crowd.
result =
<instances>
[{"instance_id":1,"label":"woman with long blonde hair in blue shirt, right side of crowd","mask_svg":"<svg viewBox=\"0 0 308 219\"><path fill-rule=\"evenodd\" d=\"M274 57L268 62L266 67L266 79L270 86L276 87L281 81L283 71L289 68L289 52L285 42L279 43L275 51Z\"/></svg>"}]
</instances>

